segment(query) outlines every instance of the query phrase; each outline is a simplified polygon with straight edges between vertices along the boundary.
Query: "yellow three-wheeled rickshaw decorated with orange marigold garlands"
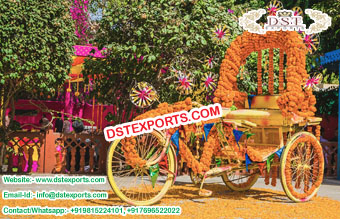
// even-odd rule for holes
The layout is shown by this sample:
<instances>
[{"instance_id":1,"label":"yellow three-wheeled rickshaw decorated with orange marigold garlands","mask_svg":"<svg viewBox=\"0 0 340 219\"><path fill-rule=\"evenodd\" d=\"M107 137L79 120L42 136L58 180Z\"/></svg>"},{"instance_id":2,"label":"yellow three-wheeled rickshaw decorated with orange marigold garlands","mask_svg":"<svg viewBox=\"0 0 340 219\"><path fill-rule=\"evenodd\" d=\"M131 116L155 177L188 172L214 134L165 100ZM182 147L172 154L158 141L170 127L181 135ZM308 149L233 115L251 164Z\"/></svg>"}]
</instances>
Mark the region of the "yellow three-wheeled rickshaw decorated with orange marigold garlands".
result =
<instances>
[{"instance_id":1,"label":"yellow three-wheeled rickshaw decorated with orange marigold garlands","mask_svg":"<svg viewBox=\"0 0 340 219\"><path fill-rule=\"evenodd\" d=\"M262 54L269 51L268 90L262 90ZM279 53L279 87L274 90L274 50ZM246 58L257 52L256 95L237 87L237 75ZM306 49L295 31L244 32L227 49L221 64L214 102L223 107L219 119L153 131L114 141L107 157L108 179L114 192L131 205L159 201L176 179L177 156L192 170L192 179L204 190L206 178L221 176L234 191L250 189L259 176L282 187L295 202L317 193L324 170L319 143L320 121L314 117L316 99L305 86ZM161 103L135 120L190 111L200 104L190 98L174 104Z\"/></svg>"}]
</instances>

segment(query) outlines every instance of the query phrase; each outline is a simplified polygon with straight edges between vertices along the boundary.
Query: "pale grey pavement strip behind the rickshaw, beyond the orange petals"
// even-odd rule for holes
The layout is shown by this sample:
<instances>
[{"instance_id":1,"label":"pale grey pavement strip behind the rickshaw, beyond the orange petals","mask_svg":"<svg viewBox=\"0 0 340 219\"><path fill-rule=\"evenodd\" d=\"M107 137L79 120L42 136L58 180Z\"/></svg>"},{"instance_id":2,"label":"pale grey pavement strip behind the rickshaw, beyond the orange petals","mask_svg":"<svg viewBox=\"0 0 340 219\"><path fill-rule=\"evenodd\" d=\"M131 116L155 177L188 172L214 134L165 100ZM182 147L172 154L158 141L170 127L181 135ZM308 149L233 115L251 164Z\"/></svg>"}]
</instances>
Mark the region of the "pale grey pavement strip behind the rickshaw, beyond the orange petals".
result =
<instances>
[{"instance_id":1,"label":"pale grey pavement strip behind the rickshaw, beyond the orange petals","mask_svg":"<svg viewBox=\"0 0 340 219\"><path fill-rule=\"evenodd\" d=\"M31 176L38 176L39 174L32 174ZM44 176L53 176L52 174L45 174ZM70 175L68 175L70 176ZM176 185L191 183L191 180L188 176L179 176L176 179ZM218 183L223 185L223 181L220 177L208 179L206 183ZM271 185L265 185L264 179L259 178L259 180L254 185L254 188L265 188L265 189L273 189L277 191L283 191L281 187L281 183L278 180L276 187ZM30 185L9 185L2 183L2 177L0 177L0 190L66 190L66 191L90 191L90 190L111 190L111 187L108 182L102 185L38 185L38 184L30 184ZM213 197L214 195L212 195ZM328 197L334 200L340 201L340 180L335 179L324 179L318 196Z\"/></svg>"}]
</instances>

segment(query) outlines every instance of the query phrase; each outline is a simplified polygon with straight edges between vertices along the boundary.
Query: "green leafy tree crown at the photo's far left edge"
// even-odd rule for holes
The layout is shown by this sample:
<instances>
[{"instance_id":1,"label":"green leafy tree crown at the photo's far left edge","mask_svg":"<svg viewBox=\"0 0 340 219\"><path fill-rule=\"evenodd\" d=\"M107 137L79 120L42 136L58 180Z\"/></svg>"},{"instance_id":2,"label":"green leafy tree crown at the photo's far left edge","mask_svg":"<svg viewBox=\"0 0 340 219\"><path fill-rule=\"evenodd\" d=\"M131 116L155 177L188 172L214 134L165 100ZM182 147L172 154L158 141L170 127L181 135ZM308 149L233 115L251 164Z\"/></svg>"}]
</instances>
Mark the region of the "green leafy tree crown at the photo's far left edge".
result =
<instances>
[{"instance_id":1,"label":"green leafy tree crown at the photo's far left edge","mask_svg":"<svg viewBox=\"0 0 340 219\"><path fill-rule=\"evenodd\" d=\"M74 40L68 1L0 0L1 85L11 92L63 84Z\"/></svg>"}]
</instances>

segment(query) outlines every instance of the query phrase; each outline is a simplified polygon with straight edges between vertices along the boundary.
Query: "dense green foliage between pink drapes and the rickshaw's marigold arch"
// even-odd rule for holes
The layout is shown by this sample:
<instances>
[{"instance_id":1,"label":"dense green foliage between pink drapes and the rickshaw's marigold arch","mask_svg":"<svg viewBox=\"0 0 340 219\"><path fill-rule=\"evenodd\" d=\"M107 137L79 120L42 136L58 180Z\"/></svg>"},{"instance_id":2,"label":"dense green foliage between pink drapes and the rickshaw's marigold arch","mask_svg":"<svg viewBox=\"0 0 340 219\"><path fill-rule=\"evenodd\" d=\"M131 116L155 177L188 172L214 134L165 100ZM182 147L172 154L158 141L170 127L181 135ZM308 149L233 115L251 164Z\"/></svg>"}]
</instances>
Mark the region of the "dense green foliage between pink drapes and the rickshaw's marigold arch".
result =
<instances>
[{"instance_id":1,"label":"dense green foliage between pink drapes and the rickshaw's marigold arch","mask_svg":"<svg viewBox=\"0 0 340 219\"><path fill-rule=\"evenodd\" d=\"M185 96L176 91L173 67L190 72L200 92L204 72L218 74L224 52L242 31L226 5L216 0L120 1L119 7L116 1L107 2L95 43L108 48L108 57L86 61L83 71L85 77L102 75L92 93L123 110L131 104L131 87L147 81L161 102L175 102ZM216 25L226 25L231 33L223 45L212 40ZM204 65L208 55L218 57L213 69Z\"/></svg>"}]
</instances>

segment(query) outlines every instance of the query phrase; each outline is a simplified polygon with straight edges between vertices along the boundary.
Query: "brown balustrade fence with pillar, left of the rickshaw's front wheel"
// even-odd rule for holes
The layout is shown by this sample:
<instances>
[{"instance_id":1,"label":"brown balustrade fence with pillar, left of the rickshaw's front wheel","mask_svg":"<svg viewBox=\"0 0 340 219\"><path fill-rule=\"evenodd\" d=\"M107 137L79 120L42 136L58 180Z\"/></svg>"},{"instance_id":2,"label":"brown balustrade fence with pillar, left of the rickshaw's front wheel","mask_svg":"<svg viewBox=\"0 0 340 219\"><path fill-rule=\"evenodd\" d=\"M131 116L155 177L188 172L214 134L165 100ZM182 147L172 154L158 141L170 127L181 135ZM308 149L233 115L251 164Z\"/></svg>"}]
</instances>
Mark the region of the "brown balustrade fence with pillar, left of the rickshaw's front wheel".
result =
<instances>
[{"instance_id":1,"label":"brown balustrade fence with pillar, left of the rickshaw's front wheel","mask_svg":"<svg viewBox=\"0 0 340 219\"><path fill-rule=\"evenodd\" d=\"M56 165L56 139L65 148L66 172L106 173L106 154L109 147L103 135L61 134L50 130L15 132L5 146L0 171L5 173L52 173ZM3 147L3 146L2 146Z\"/></svg>"}]
</instances>

